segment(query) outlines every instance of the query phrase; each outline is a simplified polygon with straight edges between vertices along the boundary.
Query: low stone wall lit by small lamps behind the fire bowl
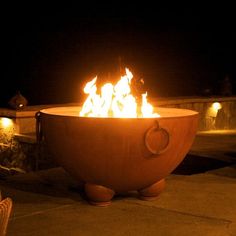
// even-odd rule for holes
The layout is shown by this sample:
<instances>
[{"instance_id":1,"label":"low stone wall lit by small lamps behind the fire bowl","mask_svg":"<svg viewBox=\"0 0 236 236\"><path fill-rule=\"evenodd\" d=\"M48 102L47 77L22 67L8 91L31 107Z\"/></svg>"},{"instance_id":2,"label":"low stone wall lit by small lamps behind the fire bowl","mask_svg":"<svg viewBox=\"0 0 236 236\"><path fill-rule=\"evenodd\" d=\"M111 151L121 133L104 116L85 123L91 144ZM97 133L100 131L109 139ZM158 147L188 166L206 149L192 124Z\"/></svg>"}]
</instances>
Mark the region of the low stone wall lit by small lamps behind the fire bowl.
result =
<instances>
[{"instance_id":1,"label":"low stone wall lit by small lamps behind the fire bowl","mask_svg":"<svg viewBox=\"0 0 236 236\"><path fill-rule=\"evenodd\" d=\"M149 100L157 107L191 109L199 112L199 132L236 130L236 97ZM215 102L220 103L221 109L213 108ZM0 117L8 117L12 122L11 126L4 128L0 118L0 177L55 166L56 163L53 162L44 143L38 145L36 142L35 114L48 107L75 105L79 104L28 106L24 110L17 111L0 108Z\"/></svg>"}]
</instances>

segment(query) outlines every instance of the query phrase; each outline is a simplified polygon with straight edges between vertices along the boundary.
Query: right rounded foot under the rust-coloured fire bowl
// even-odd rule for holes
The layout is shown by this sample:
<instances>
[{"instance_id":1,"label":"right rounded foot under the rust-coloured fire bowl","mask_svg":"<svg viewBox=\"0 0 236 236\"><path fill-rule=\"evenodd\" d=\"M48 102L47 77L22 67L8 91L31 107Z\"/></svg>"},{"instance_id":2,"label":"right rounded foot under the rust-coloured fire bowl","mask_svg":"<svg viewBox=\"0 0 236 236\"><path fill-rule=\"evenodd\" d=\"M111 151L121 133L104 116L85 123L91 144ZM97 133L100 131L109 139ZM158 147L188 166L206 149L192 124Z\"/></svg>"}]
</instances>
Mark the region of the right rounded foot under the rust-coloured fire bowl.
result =
<instances>
[{"instance_id":1,"label":"right rounded foot under the rust-coloured fire bowl","mask_svg":"<svg viewBox=\"0 0 236 236\"><path fill-rule=\"evenodd\" d=\"M150 185L147 188L138 190L140 195L139 197L140 199L146 201L155 200L159 196L159 194L163 191L164 188L165 188L165 179L162 179Z\"/></svg>"}]
</instances>

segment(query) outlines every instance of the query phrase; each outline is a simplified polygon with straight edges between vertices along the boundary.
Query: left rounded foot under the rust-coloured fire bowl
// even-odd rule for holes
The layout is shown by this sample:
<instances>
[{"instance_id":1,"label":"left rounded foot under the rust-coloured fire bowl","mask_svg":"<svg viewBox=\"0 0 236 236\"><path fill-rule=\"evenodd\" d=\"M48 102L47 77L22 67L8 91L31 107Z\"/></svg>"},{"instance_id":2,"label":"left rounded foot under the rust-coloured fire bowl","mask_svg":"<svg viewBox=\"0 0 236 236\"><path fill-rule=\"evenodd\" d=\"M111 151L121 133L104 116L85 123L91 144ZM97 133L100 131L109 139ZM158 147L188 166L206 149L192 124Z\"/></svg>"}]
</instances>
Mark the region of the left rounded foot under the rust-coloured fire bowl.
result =
<instances>
[{"instance_id":1,"label":"left rounded foot under the rust-coloured fire bowl","mask_svg":"<svg viewBox=\"0 0 236 236\"><path fill-rule=\"evenodd\" d=\"M95 206L108 206L115 195L112 189L97 184L85 184L85 193L89 203Z\"/></svg>"}]
</instances>

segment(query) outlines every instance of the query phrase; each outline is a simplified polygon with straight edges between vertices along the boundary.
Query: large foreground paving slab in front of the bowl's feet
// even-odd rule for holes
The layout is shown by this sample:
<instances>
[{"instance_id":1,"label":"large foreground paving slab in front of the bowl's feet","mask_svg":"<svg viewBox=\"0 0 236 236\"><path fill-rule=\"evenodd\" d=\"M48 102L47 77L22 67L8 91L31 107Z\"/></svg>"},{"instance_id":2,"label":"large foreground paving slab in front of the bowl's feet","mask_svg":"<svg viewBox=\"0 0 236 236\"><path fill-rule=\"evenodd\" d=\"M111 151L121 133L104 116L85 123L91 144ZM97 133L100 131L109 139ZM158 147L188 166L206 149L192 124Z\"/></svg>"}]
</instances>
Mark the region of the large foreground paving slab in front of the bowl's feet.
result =
<instances>
[{"instance_id":1,"label":"large foreground paving slab in front of the bowl's feet","mask_svg":"<svg viewBox=\"0 0 236 236\"><path fill-rule=\"evenodd\" d=\"M99 208L85 203L53 208L10 222L8 235L228 235L227 220L117 201Z\"/></svg>"}]
</instances>

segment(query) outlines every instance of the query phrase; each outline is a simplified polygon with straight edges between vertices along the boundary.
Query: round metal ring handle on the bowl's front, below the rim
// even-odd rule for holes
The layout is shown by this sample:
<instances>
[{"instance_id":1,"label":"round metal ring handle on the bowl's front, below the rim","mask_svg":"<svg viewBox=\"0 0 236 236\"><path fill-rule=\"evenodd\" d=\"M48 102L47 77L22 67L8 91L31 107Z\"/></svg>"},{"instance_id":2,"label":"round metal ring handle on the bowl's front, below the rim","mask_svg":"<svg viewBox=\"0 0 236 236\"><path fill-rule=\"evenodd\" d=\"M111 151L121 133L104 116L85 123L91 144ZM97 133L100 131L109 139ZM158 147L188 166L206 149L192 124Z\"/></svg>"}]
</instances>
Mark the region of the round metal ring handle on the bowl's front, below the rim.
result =
<instances>
[{"instance_id":1,"label":"round metal ring handle on the bowl's front, below the rim","mask_svg":"<svg viewBox=\"0 0 236 236\"><path fill-rule=\"evenodd\" d=\"M167 136L168 136L167 144L161 150L154 150L153 148L150 147L150 145L148 143L148 137L150 136L150 134L152 132L156 132L156 131L164 131L167 134ZM169 148L169 145L170 145L170 134L169 134L169 132L166 129L161 128L160 125L159 125L159 122L157 120L155 120L155 125L152 126L151 128L149 128L147 130L146 134L145 134L144 143L145 143L145 146L146 146L146 148L148 149L149 152L151 152L153 155L160 155L160 154L164 153Z\"/></svg>"}]
</instances>

